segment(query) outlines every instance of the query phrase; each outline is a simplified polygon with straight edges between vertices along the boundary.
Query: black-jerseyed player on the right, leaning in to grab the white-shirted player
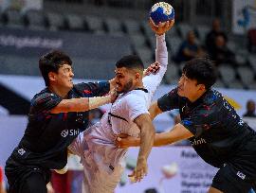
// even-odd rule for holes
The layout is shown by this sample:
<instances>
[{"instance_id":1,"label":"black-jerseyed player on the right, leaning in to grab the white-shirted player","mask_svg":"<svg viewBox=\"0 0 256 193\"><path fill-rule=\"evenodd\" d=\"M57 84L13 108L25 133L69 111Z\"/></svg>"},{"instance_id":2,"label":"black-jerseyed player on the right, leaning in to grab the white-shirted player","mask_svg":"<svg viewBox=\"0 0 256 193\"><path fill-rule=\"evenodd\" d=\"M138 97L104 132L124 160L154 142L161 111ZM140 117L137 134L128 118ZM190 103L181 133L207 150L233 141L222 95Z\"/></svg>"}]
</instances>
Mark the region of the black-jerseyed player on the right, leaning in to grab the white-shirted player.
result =
<instances>
[{"instance_id":1,"label":"black-jerseyed player on the right, leaning in to grab the white-shirted player","mask_svg":"<svg viewBox=\"0 0 256 193\"><path fill-rule=\"evenodd\" d=\"M177 87L151 105L152 118L173 109L179 109L181 116L173 130L156 133L154 146L189 139L205 162L219 168L210 193L248 193L256 184L256 132L221 93L211 89L216 78L211 61L194 59L186 63ZM140 141L126 137L118 138L117 143L126 148Z\"/></svg>"}]
</instances>

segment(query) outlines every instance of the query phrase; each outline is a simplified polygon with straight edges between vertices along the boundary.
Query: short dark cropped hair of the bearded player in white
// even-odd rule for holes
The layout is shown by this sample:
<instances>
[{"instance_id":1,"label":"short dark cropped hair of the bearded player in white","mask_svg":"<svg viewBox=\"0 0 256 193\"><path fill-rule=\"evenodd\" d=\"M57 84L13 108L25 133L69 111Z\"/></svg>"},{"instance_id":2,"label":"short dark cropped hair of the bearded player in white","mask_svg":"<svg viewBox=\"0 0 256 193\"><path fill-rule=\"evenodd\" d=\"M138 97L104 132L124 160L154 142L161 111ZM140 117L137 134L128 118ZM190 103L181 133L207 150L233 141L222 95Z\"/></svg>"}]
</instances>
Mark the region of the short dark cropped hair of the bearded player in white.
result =
<instances>
[{"instance_id":1,"label":"short dark cropped hair of the bearded player in white","mask_svg":"<svg viewBox=\"0 0 256 193\"><path fill-rule=\"evenodd\" d=\"M122 57L119 61L116 63L117 68L125 67L128 69L139 69L144 70L144 64L143 61L137 56L137 55L128 55Z\"/></svg>"}]
</instances>

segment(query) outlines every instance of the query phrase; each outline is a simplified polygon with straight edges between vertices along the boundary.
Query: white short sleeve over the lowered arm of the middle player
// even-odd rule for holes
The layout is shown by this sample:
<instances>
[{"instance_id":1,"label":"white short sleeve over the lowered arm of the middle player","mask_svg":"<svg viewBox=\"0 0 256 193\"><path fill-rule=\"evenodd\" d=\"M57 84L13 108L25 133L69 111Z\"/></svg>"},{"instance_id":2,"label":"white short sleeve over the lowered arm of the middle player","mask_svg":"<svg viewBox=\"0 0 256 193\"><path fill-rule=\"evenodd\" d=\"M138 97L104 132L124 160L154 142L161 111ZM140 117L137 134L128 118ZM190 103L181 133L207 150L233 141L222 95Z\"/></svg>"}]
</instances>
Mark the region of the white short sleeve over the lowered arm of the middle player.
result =
<instances>
[{"instance_id":1,"label":"white short sleeve over the lowered arm of the middle player","mask_svg":"<svg viewBox=\"0 0 256 193\"><path fill-rule=\"evenodd\" d=\"M146 100L141 96L131 95L126 98L126 109L129 120L134 121L140 114L149 114Z\"/></svg>"}]
</instances>

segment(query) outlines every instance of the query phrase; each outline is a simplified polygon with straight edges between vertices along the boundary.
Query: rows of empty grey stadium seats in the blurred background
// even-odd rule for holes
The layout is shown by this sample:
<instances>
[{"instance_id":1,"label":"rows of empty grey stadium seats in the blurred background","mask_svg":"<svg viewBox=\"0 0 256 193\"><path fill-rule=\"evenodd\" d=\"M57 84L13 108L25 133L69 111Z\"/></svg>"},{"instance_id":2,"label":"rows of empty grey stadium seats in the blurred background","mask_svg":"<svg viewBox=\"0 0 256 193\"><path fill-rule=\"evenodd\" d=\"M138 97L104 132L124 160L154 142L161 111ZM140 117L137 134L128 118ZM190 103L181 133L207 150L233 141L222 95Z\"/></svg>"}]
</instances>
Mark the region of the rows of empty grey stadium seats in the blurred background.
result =
<instances>
[{"instance_id":1,"label":"rows of empty grey stadium seats in the blurred background","mask_svg":"<svg viewBox=\"0 0 256 193\"><path fill-rule=\"evenodd\" d=\"M145 65L155 59L155 34L147 21L117 19L114 17L98 17L96 15L61 14L57 12L43 12L28 10L21 13L7 9L1 13L0 26L12 28L28 28L30 30L68 30L123 36L130 40L134 54L138 54ZM198 44L204 44L210 26L191 26L175 23L174 28L167 33L166 41L169 47L171 65L164 77L164 83L176 83L181 74L184 63L174 63L172 57L179 45L185 40L188 31L193 30ZM236 66L222 63L219 66L219 79L216 86L227 88L256 89L256 57L247 52L246 46L237 44L229 39L229 48L235 53Z\"/></svg>"}]
</instances>

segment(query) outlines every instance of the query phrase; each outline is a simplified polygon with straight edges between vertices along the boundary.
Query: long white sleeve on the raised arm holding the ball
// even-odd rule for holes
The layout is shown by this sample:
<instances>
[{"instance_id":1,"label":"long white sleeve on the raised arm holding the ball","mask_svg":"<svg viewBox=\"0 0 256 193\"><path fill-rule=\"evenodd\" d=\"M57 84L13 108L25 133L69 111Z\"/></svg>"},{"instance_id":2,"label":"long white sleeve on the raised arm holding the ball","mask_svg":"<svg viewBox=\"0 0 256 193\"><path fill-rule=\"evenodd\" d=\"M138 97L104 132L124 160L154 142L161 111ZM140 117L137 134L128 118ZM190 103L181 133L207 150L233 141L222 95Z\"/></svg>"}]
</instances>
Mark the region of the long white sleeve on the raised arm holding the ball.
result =
<instances>
[{"instance_id":1,"label":"long white sleeve on the raised arm holding the ball","mask_svg":"<svg viewBox=\"0 0 256 193\"><path fill-rule=\"evenodd\" d=\"M151 74L143 78L144 87L150 92L151 97L154 96L155 90L161 83L168 64L168 51L165 42L165 34L156 35L155 61L160 63L160 70L155 75Z\"/></svg>"}]
</instances>

